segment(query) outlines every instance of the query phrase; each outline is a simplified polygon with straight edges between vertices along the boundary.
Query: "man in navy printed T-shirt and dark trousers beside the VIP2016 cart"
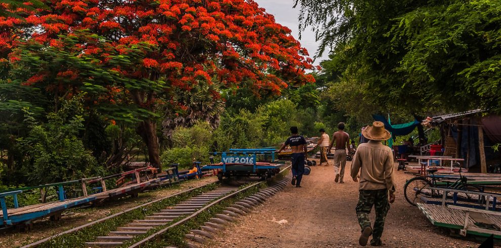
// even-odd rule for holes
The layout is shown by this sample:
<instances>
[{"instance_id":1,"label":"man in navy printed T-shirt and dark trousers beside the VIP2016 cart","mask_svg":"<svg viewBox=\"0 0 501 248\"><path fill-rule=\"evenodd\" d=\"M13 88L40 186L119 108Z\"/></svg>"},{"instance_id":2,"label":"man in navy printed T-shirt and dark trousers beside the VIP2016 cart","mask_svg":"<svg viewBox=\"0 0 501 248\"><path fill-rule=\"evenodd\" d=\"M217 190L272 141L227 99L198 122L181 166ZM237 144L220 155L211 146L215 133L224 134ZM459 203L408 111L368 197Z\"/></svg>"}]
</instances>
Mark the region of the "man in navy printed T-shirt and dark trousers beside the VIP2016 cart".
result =
<instances>
[{"instance_id":1,"label":"man in navy printed T-shirt and dark trousers beside the VIP2016 cart","mask_svg":"<svg viewBox=\"0 0 501 248\"><path fill-rule=\"evenodd\" d=\"M293 180L290 183L296 185L296 188L301 188L301 179L305 172L305 159L307 158L308 150L305 138L299 135L298 127L290 127L290 133L292 136L283 143L277 153L280 154L287 145L290 145L290 148L293 150L293 153L290 155Z\"/></svg>"}]
</instances>

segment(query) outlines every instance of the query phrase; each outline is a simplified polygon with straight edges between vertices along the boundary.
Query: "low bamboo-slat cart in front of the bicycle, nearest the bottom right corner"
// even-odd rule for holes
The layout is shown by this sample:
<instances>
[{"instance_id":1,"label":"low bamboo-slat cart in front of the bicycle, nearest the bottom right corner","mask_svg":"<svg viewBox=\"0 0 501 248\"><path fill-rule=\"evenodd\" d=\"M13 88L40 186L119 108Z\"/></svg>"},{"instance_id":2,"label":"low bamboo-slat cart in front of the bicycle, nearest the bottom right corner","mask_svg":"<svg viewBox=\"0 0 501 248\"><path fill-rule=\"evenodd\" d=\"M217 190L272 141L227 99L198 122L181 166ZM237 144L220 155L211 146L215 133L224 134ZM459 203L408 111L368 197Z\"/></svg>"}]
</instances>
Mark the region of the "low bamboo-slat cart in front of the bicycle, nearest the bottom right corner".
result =
<instances>
[{"instance_id":1,"label":"low bamboo-slat cart in front of the bicycle, nearest the bottom right corner","mask_svg":"<svg viewBox=\"0 0 501 248\"><path fill-rule=\"evenodd\" d=\"M490 236L501 238L501 212L497 206L497 198L501 194L472 192L458 189L432 187L430 190L440 192L439 203L417 203L417 207L435 226L446 227L466 236ZM457 201L457 195L474 195L478 202ZM450 200L451 195L454 200Z\"/></svg>"}]
</instances>

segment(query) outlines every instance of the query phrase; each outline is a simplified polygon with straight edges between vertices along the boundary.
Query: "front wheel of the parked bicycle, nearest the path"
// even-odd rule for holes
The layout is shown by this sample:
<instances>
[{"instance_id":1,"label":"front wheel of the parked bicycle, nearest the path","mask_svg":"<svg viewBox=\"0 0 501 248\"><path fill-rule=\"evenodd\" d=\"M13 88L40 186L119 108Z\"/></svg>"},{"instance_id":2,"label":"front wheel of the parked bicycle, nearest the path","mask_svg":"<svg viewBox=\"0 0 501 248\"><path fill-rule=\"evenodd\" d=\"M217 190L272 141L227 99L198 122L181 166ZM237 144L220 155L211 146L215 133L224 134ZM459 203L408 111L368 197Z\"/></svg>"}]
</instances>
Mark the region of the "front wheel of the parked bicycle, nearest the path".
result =
<instances>
[{"instance_id":1,"label":"front wheel of the parked bicycle, nearest the path","mask_svg":"<svg viewBox=\"0 0 501 248\"><path fill-rule=\"evenodd\" d=\"M432 184L425 177L411 178L404 185L405 199L413 206L418 202L424 203L423 197L434 197L435 195L434 190L430 187Z\"/></svg>"}]
</instances>

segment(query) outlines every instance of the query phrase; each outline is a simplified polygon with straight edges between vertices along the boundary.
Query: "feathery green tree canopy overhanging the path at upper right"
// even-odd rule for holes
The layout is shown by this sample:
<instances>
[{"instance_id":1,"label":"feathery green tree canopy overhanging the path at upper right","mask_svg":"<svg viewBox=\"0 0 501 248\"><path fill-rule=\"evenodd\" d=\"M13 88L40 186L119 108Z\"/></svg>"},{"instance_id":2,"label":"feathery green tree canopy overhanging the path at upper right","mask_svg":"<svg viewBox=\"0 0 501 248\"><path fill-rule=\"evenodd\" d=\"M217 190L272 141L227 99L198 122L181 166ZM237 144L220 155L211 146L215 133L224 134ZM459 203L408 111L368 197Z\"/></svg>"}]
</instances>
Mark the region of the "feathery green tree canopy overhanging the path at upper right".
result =
<instances>
[{"instance_id":1,"label":"feathery green tree canopy overhanging the path at upper right","mask_svg":"<svg viewBox=\"0 0 501 248\"><path fill-rule=\"evenodd\" d=\"M312 26L318 52L332 51L320 78L337 109L362 122L377 112L501 111L498 1L296 4L300 29Z\"/></svg>"}]
</instances>

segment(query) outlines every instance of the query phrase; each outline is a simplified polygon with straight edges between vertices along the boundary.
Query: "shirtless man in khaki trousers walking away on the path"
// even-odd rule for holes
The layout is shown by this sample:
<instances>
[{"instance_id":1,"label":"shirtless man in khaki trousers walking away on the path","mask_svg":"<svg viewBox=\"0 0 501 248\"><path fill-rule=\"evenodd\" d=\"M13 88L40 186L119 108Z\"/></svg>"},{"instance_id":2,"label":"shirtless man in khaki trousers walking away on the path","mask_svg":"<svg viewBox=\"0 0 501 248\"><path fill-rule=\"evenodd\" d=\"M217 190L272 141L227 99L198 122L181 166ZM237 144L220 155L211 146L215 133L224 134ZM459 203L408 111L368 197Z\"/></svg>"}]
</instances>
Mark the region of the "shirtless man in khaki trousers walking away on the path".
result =
<instances>
[{"instance_id":1,"label":"shirtless man in khaki trousers walking away on the path","mask_svg":"<svg viewBox=\"0 0 501 248\"><path fill-rule=\"evenodd\" d=\"M334 152L334 171L336 173L336 179L334 179L334 181L344 183L343 177L345 175L346 154L350 147L350 135L344 131L344 122L339 122L338 129L339 131L332 135L332 142L330 142L328 151L330 151L332 145L336 143L336 151Z\"/></svg>"}]
</instances>

